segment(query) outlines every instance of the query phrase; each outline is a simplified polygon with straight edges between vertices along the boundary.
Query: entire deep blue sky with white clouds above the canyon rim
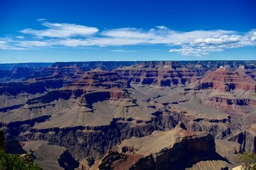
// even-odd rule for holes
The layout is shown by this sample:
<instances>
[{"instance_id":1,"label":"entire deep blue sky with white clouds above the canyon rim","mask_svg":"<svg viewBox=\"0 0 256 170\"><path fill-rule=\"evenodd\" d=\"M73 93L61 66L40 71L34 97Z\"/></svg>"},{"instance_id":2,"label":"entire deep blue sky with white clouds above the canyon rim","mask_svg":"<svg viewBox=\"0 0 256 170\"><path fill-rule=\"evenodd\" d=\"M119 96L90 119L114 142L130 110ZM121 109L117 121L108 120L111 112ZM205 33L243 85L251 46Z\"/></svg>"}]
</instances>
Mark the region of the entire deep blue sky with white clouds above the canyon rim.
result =
<instances>
[{"instance_id":1,"label":"entire deep blue sky with white clouds above the canyon rim","mask_svg":"<svg viewBox=\"0 0 256 170\"><path fill-rule=\"evenodd\" d=\"M254 0L0 0L0 63L256 60Z\"/></svg>"}]
</instances>

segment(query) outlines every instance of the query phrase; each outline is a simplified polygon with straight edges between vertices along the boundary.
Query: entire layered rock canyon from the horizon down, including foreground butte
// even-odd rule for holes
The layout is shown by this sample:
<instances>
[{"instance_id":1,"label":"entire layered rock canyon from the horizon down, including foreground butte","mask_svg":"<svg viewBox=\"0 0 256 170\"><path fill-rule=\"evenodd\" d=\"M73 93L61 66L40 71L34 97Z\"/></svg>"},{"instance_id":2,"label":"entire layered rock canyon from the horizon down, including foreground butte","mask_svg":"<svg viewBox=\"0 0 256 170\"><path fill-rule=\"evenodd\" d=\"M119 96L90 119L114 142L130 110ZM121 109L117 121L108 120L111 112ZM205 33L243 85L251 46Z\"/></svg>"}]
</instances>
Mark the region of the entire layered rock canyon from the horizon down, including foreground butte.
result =
<instances>
[{"instance_id":1,"label":"entire layered rock canyon from the horizon down, including foreground butte","mask_svg":"<svg viewBox=\"0 0 256 170\"><path fill-rule=\"evenodd\" d=\"M0 64L0 129L43 169L233 168L256 152L256 62Z\"/></svg>"}]
</instances>

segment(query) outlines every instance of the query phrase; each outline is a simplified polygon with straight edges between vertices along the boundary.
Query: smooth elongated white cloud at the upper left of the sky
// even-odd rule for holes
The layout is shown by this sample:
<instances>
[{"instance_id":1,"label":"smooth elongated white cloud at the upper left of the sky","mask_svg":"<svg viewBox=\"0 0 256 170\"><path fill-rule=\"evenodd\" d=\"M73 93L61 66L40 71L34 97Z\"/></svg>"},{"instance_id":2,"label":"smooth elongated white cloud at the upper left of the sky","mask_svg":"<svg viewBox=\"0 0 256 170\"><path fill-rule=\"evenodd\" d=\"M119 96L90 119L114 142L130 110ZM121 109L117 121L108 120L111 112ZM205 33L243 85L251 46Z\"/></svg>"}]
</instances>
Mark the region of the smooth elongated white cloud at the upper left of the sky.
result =
<instances>
[{"instance_id":1,"label":"smooth elongated white cloud at the upper left of the sky","mask_svg":"<svg viewBox=\"0 0 256 170\"><path fill-rule=\"evenodd\" d=\"M73 36L87 36L98 32L97 28L80 26L71 23L49 23L43 22L43 26L48 29L44 30L33 30L26 28L21 30L21 33L35 35L37 37L48 37L48 38L69 38Z\"/></svg>"}]
</instances>

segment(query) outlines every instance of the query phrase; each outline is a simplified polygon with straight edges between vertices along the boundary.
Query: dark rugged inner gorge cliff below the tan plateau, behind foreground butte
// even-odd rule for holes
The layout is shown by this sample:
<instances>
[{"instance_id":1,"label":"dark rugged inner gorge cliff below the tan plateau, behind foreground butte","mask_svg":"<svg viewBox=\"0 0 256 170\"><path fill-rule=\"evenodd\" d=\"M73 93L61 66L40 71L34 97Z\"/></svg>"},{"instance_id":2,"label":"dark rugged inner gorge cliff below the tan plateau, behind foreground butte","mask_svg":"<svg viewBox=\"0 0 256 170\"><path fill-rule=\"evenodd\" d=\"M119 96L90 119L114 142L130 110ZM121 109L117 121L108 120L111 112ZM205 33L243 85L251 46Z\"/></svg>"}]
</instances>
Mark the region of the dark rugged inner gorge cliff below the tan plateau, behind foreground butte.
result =
<instances>
[{"instance_id":1,"label":"dark rugged inner gorge cliff below the tan plateau, behind foreground butte","mask_svg":"<svg viewBox=\"0 0 256 170\"><path fill-rule=\"evenodd\" d=\"M150 121L119 118L112 120L110 125L96 127L58 128L55 123L55 128L42 128L40 126L41 123L38 123L33 128L30 128L30 132L18 135L18 140L46 140L51 145L60 145L68 148L69 152L77 160L90 156L93 159L100 159L105 152L122 140L131 137L144 137L150 135L154 130L173 129L179 121L183 121L188 130L208 131L220 139L230 135L233 130L232 125L228 125L228 122L210 123L203 120L194 122L193 119L186 118L186 115L181 113L169 113L169 115L152 117Z\"/></svg>"}]
</instances>

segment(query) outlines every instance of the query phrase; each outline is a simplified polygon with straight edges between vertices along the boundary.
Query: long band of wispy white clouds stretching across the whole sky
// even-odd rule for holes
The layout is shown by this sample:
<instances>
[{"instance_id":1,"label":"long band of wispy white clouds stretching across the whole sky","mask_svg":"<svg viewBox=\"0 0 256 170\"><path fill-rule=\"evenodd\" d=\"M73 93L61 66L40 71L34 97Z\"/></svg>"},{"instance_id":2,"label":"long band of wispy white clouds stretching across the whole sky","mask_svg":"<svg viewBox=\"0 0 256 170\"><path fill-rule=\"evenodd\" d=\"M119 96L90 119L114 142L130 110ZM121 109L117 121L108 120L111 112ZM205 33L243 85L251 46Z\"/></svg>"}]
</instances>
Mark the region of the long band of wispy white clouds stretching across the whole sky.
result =
<instances>
[{"instance_id":1,"label":"long band of wispy white clouds stretching across the whole sky","mask_svg":"<svg viewBox=\"0 0 256 170\"><path fill-rule=\"evenodd\" d=\"M16 38L0 39L2 50L24 50L43 47L106 47L124 45L165 45L169 52L187 56L203 56L210 52L256 45L256 30L246 33L234 30L193 30L179 32L156 26L149 30L117 28L100 31L95 27L72 23L50 23L38 19L45 29L26 28ZM112 50L112 52L135 52Z\"/></svg>"}]
</instances>

